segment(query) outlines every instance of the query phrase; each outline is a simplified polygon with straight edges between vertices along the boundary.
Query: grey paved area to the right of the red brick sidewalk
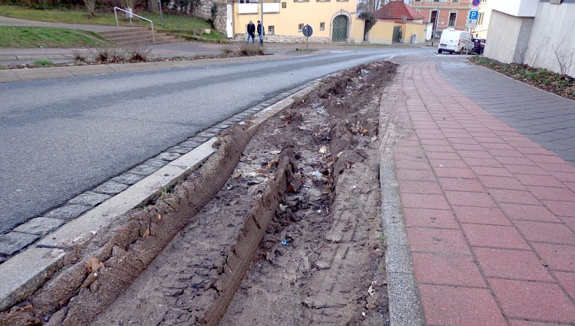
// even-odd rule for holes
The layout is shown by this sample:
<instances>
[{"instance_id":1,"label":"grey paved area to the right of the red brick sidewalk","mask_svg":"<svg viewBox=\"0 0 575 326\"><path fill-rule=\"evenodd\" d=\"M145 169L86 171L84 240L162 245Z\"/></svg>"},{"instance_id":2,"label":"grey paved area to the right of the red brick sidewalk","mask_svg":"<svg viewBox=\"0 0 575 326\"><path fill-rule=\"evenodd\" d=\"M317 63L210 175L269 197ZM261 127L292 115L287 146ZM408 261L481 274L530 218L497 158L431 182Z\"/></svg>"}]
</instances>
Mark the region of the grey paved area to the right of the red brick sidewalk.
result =
<instances>
[{"instance_id":1,"label":"grey paved area to the right of the red brick sidewalk","mask_svg":"<svg viewBox=\"0 0 575 326\"><path fill-rule=\"evenodd\" d=\"M501 121L575 164L575 101L468 62L441 62L438 71Z\"/></svg>"}]
</instances>

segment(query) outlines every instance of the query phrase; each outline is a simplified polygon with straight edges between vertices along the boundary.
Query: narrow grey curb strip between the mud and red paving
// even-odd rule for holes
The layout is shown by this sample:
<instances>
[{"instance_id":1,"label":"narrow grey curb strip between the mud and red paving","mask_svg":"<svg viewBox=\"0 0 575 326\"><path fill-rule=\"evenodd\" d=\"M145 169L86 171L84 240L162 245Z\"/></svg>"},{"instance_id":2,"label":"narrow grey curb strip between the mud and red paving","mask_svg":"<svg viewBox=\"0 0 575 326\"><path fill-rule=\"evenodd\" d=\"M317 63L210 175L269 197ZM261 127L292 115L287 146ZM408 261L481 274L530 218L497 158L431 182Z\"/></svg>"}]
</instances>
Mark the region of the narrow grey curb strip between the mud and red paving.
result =
<instances>
[{"instance_id":1,"label":"narrow grey curb strip between the mud and red paving","mask_svg":"<svg viewBox=\"0 0 575 326\"><path fill-rule=\"evenodd\" d=\"M379 180L381 186L381 218L385 230L385 272L387 276L387 297L390 307L391 326L424 326L423 309L414 278L414 269L407 243L407 232L403 208L399 197L399 186L395 174L394 121L384 115L394 108L399 96L386 90L381 97L380 128L384 132L381 140Z\"/></svg>"}]
</instances>

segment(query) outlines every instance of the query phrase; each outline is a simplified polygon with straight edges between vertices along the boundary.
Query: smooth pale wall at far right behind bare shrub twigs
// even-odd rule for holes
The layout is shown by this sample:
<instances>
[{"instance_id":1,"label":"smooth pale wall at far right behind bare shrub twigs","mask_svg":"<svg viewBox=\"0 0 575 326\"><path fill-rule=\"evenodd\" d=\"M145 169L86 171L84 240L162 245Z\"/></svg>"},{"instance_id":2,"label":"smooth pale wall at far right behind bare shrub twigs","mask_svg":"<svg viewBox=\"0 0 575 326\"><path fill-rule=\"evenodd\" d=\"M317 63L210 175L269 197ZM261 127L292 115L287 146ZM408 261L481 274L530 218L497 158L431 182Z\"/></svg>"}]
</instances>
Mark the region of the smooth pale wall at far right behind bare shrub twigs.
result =
<instances>
[{"instance_id":1,"label":"smooth pale wall at far right behind bare shrub twigs","mask_svg":"<svg viewBox=\"0 0 575 326\"><path fill-rule=\"evenodd\" d=\"M561 72L557 56L563 57L567 65L572 58L565 72L575 76L575 3L540 3L526 52L525 63L555 72Z\"/></svg>"}]
</instances>

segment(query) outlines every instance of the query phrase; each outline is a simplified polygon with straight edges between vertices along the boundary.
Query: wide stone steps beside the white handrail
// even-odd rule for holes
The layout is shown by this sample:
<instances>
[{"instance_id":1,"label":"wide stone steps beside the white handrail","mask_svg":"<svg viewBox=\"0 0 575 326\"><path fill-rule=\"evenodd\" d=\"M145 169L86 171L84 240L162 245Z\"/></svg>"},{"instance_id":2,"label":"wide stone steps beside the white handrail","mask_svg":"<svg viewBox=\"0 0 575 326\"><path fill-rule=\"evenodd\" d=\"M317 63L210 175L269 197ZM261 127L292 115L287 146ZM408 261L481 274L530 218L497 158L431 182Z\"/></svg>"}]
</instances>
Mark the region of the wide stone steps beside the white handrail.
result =
<instances>
[{"instance_id":1,"label":"wide stone steps beside the white handrail","mask_svg":"<svg viewBox=\"0 0 575 326\"><path fill-rule=\"evenodd\" d=\"M154 36L156 39L154 42L154 38L152 37L152 30L145 27L123 30L108 30L105 32L99 32L98 34L119 45L178 43L184 41L184 39L174 35L154 30Z\"/></svg>"}]
</instances>

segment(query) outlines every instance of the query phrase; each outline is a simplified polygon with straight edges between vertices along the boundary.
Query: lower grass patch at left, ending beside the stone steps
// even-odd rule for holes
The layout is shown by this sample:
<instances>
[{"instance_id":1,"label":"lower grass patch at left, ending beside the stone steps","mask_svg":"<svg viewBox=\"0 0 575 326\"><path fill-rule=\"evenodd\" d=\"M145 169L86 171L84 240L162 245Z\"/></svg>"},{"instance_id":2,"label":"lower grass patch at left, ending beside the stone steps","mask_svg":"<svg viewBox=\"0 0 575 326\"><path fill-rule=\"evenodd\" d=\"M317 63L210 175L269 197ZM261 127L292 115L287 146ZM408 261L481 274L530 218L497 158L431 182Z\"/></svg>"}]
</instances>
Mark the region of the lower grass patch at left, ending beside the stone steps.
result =
<instances>
[{"instance_id":1,"label":"lower grass patch at left, ending beside the stone steps","mask_svg":"<svg viewBox=\"0 0 575 326\"><path fill-rule=\"evenodd\" d=\"M0 48L93 48L108 45L103 37L67 28L0 26Z\"/></svg>"}]
</instances>

